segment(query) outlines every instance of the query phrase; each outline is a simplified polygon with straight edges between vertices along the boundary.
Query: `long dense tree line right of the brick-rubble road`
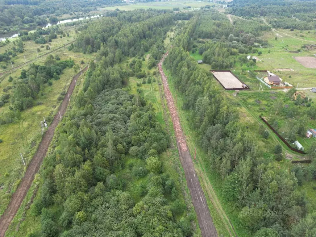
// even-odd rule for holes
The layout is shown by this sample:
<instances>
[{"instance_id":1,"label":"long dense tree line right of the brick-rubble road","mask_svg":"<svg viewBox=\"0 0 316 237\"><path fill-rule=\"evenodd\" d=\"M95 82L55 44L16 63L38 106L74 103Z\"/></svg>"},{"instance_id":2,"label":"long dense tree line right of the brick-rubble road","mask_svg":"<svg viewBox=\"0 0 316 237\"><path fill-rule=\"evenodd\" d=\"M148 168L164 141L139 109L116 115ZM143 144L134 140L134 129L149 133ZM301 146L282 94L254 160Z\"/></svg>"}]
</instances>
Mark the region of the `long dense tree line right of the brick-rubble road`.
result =
<instances>
[{"instance_id":1,"label":"long dense tree line right of the brick-rubble road","mask_svg":"<svg viewBox=\"0 0 316 237\"><path fill-rule=\"evenodd\" d=\"M184 96L183 108L190 112L189 122L209 154L210 167L224 181L225 197L239 208L240 222L257 237L312 233L315 220L313 214L303 218L306 200L297 190L295 172L261 155L256 138L239 122L235 106L185 51L182 42L194 36L194 17L188 24L191 26L175 40L164 66Z\"/></svg>"}]
</instances>

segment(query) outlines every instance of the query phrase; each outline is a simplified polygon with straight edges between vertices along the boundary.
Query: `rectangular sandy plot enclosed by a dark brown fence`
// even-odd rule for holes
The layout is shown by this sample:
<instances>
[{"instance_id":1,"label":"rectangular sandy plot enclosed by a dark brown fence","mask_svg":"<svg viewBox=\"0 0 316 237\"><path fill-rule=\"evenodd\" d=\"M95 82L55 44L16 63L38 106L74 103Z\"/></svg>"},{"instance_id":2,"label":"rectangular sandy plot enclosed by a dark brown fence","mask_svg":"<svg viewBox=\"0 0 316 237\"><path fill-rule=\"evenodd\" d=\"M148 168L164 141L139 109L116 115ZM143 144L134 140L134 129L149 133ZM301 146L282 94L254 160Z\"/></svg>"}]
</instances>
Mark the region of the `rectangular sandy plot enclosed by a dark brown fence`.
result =
<instances>
[{"instance_id":1,"label":"rectangular sandy plot enclosed by a dark brown fence","mask_svg":"<svg viewBox=\"0 0 316 237\"><path fill-rule=\"evenodd\" d=\"M225 90L249 90L249 87L241 82L231 71L211 70L215 79Z\"/></svg>"}]
</instances>

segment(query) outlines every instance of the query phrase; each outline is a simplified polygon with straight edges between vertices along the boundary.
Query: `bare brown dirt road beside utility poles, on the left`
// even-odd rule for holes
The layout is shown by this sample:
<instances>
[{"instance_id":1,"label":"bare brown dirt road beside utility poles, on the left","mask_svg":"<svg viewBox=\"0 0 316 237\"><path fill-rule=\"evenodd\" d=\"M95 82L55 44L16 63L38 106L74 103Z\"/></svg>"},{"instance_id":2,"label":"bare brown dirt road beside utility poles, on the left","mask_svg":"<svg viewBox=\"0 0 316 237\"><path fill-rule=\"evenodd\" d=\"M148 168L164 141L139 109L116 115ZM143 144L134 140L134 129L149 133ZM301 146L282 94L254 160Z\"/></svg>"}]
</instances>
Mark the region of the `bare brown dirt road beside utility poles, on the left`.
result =
<instances>
[{"instance_id":1,"label":"bare brown dirt road beside utility poles, on the left","mask_svg":"<svg viewBox=\"0 0 316 237\"><path fill-rule=\"evenodd\" d=\"M82 72L85 72L88 69L88 67L84 68ZM28 189L31 187L32 182L34 180L35 174L39 171L40 165L42 164L42 161L44 157L46 156L46 152L48 150L49 144L52 141L52 138L54 136L55 129L60 121L59 112L61 116L64 115L67 109L67 105L69 103L68 95L70 96L72 92L74 91L76 80L80 76L80 72L72 78L72 82L70 83L70 86L68 88L67 94L64 97L63 103L61 104L59 111L56 113L54 120L52 121L52 124L48 127L47 131L44 134L44 137L42 138L42 141L40 142L40 145L37 149L36 154L34 155L32 161L27 167L27 170L25 172L25 175L15 191L15 193L12 195L11 201L3 213L3 215L0 218L0 237L4 237L4 234L6 230L9 227L9 224L13 220L15 214L17 213L18 209L21 206L21 203L24 199L24 197L27 194Z\"/></svg>"}]
</instances>

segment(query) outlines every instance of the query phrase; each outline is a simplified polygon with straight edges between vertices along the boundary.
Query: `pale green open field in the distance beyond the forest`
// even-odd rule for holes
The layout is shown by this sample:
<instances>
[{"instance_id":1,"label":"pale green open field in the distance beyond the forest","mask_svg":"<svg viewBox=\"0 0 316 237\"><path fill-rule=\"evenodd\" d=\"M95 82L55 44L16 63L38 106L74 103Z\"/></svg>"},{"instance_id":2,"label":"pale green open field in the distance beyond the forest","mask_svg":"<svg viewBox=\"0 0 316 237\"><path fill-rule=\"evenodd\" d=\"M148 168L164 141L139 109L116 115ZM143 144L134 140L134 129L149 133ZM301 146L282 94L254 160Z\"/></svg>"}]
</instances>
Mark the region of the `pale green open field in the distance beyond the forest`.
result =
<instances>
[{"instance_id":1,"label":"pale green open field in the distance beyond the forest","mask_svg":"<svg viewBox=\"0 0 316 237\"><path fill-rule=\"evenodd\" d=\"M113 7L105 7L101 8L100 11L104 10L125 10L125 11L132 11L135 9L173 9L173 8L180 8L183 9L185 7L200 8L204 7L205 5L217 5L216 3L209 3L207 1L165 1L165 2L149 2L149 3L136 3L136 4L129 4L123 6L113 6ZM188 9L190 10L190 9Z\"/></svg>"}]
</instances>

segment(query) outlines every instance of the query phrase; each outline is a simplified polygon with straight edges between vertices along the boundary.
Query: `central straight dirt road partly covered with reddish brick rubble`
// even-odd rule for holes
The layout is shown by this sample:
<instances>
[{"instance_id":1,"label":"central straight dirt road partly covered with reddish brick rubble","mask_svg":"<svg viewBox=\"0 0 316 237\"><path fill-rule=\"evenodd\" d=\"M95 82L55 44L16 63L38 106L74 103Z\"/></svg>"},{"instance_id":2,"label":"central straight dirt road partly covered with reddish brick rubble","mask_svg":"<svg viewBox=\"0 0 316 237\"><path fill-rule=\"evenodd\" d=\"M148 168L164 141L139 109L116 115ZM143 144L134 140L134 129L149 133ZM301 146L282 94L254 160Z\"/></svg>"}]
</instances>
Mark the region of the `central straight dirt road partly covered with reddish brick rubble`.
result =
<instances>
[{"instance_id":1,"label":"central straight dirt road partly covered with reddish brick rubble","mask_svg":"<svg viewBox=\"0 0 316 237\"><path fill-rule=\"evenodd\" d=\"M192 203L197 213L197 220L201 229L202 236L217 237L216 228L210 216L210 210L207 206L204 192L197 178L197 174L195 173L191 154L187 147L185 137L183 135L183 131L180 125L180 119L176 110L176 106L174 105L172 94L168 87L167 77L162 70L162 63L167 54L168 52L163 56L163 58L159 62L158 69L161 75L163 89L167 99L167 105L172 118L173 128L177 140L177 147L179 151L179 157L182 167L184 169L186 183L191 193Z\"/></svg>"}]
</instances>

